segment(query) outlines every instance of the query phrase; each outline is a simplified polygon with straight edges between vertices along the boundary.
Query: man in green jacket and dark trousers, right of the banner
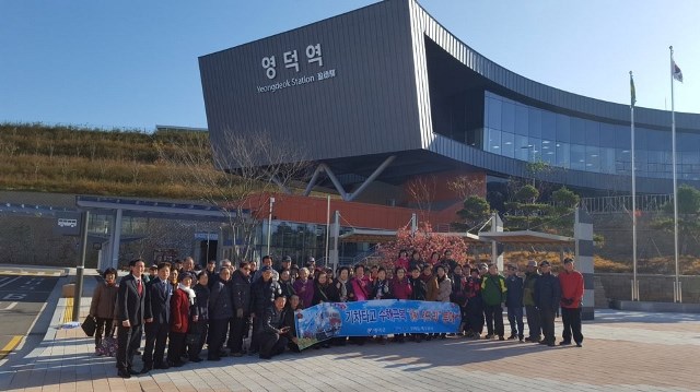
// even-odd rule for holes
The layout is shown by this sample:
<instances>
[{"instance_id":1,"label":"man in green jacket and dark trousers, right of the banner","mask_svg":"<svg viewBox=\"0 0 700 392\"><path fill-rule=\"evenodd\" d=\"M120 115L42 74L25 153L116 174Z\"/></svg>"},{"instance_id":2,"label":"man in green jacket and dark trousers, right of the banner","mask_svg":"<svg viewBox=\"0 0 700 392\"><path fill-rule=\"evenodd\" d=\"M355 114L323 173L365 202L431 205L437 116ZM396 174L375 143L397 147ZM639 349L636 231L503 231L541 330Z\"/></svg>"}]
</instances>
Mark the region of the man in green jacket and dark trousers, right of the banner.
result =
<instances>
[{"instance_id":1,"label":"man in green jacket and dark trousers, right of the banner","mask_svg":"<svg viewBox=\"0 0 700 392\"><path fill-rule=\"evenodd\" d=\"M495 335L500 341L504 341L503 307L505 302L505 278L499 274L499 266L495 263L489 265L489 273L481 280L481 297L483 298L483 311L486 314L486 328L488 334L486 338Z\"/></svg>"}]
</instances>

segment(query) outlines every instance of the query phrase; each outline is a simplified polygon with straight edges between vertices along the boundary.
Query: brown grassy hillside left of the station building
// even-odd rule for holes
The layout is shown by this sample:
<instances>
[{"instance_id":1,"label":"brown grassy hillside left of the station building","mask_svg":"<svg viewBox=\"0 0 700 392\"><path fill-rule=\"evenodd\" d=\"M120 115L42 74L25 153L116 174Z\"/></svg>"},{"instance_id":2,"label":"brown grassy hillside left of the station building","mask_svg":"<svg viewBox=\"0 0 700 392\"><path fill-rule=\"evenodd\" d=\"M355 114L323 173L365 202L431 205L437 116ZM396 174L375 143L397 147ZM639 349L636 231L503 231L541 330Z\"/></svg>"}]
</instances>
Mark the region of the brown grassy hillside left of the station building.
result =
<instances>
[{"instance_id":1,"label":"brown grassy hillside left of the station building","mask_svg":"<svg viewBox=\"0 0 700 392\"><path fill-rule=\"evenodd\" d=\"M42 123L0 123L0 189L191 199L159 158L182 138L201 131L103 130ZM202 143L201 145L207 145ZM192 153L209 155L210 151ZM213 170L213 168L212 168Z\"/></svg>"}]
</instances>

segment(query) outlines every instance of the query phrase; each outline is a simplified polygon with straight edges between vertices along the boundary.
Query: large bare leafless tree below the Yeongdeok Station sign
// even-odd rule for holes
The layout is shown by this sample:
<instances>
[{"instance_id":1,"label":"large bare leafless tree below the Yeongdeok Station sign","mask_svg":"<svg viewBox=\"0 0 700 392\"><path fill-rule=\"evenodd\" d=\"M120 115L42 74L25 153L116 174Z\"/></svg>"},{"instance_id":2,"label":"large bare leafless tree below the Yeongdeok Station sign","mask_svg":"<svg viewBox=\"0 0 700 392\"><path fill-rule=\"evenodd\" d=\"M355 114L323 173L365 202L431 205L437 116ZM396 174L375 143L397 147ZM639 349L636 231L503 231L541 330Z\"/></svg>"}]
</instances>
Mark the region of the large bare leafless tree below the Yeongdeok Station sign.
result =
<instances>
[{"instance_id":1,"label":"large bare leafless tree below the Yeongdeok Station sign","mask_svg":"<svg viewBox=\"0 0 700 392\"><path fill-rule=\"evenodd\" d=\"M225 132L210 143L202 132L174 132L156 141L160 159L194 199L219 207L238 260L249 260L259 218L267 216L271 192L290 192L292 180L306 174L303 153L267 133ZM240 246L237 246L240 245Z\"/></svg>"}]
</instances>

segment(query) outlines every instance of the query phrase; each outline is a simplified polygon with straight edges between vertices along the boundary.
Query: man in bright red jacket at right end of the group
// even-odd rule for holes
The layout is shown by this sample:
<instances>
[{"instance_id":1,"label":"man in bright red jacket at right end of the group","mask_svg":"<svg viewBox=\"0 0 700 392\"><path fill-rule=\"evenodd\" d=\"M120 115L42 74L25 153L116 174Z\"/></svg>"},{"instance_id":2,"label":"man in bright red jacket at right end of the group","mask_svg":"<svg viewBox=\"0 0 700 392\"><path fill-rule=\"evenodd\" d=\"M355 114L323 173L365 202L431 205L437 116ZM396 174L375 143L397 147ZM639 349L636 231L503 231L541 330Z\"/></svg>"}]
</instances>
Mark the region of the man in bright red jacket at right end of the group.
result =
<instances>
[{"instance_id":1,"label":"man in bright red jacket at right end of the group","mask_svg":"<svg viewBox=\"0 0 700 392\"><path fill-rule=\"evenodd\" d=\"M570 345L571 337L581 347L581 302L583 300L583 275L574 269L573 259L564 259L564 272L559 274L561 286L561 321L564 324L562 341L559 345Z\"/></svg>"}]
</instances>

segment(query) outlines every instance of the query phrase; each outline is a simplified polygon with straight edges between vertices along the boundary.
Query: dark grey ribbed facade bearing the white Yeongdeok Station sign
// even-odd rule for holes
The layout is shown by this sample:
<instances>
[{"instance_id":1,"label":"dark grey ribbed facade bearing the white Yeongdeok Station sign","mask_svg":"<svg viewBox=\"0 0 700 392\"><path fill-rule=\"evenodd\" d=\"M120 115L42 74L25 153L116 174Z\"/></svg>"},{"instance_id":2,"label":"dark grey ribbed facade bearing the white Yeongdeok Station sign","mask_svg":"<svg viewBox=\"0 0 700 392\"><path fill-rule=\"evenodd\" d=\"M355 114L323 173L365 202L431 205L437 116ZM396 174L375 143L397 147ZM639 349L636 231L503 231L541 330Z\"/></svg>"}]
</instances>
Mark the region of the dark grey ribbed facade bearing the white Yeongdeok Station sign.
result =
<instances>
[{"instance_id":1,"label":"dark grey ribbed facade bearing the white Yeongdeok Station sign","mask_svg":"<svg viewBox=\"0 0 700 392\"><path fill-rule=\"evenodd\" d=\"M406 1L387 1L201 57L212 142L268 133L314 161L420 149L408 12ZM306 58L317 44L323 67ZM292 50L299 72L285 68ZM272 56L268 79L261 62ZM329 70L334 78L318 79ZM291 85L300 79L308 83Z\"/></svg>"}]
</instances>

